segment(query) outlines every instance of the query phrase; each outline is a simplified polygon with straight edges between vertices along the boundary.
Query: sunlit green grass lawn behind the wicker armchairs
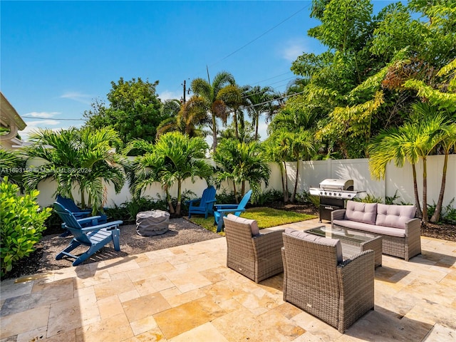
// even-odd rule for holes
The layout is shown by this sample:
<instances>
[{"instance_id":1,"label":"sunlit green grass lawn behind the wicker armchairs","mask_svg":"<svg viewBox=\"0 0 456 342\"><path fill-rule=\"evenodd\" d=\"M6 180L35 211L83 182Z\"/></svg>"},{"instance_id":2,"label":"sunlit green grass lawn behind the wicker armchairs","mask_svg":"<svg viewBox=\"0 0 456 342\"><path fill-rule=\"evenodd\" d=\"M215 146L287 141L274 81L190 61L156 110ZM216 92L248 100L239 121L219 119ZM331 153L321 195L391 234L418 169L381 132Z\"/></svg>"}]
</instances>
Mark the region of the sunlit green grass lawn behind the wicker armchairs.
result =
<instances>
[{"instance_id":1,"label":"sunlit green grass lawn behind the wicker armchairs","mask_svg":"<svg viewBox=\"0 0 456 342\"><path fill-rule=\"evenodd\" d=\"M269 207L256 207L247 209L246 212L241 214L241 217L246 219L256 219L259 229L276 227L281 224L306 221L306 219L314 219L316 216L309 214L302 214L299 212L289 212L286 210L278 210ZM217 226L214 225L214 217L210 216L207 219L201 216L193 216L191 222L211 231L216 232ZM224 232L222 232L224 235Z\"/></svg>"}]
</instances>

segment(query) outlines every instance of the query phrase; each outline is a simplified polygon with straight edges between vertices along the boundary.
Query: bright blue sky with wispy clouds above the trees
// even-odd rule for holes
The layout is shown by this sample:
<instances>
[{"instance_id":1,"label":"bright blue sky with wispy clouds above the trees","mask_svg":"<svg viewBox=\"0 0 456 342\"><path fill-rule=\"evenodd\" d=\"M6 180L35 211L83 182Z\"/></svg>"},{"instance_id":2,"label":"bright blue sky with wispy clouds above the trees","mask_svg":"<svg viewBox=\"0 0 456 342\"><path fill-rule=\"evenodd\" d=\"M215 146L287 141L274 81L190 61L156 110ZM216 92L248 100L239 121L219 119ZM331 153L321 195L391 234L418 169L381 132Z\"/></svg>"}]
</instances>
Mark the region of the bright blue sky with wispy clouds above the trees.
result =
<instances>
[{"instance_id":1,"label":"bright blue sky with wispy clouds above the trees","mask_svg":"<svg viewBox=\"0 0 456 342\"><path fill-rule=\"evenodd\" d=\"M389 2L389 1L388 1ZM376 9L387 1L374 1ZM162 100L197 77L284 91L291 62L325 48L306 36L311 1L1 1L1 91L37 127L83 125L111 81L159 81ZM76 119L76 120L72 120ZM264 127L263 127L264 131Z\"/></svg>"}]
</instances>

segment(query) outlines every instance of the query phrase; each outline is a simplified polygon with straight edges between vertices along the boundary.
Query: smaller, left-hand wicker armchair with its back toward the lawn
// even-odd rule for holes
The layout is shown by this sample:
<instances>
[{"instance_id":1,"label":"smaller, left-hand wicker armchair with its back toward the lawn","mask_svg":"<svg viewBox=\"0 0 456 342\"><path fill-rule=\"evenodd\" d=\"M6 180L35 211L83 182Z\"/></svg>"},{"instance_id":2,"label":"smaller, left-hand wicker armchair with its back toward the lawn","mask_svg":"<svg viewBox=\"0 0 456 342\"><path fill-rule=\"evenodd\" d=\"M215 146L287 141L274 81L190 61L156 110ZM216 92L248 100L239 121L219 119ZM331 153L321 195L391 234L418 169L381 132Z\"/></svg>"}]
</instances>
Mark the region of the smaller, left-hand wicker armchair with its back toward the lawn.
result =
<instances>
[{"instance_id":1,"label":"smaller, left-hand wicker armchair with its back toward the lawn","mask_svg":"<svg viewBox=\"0 0 456 342\"><path fill-rule=\"evenodd\" d=\"M284 270L281 247L284 229L259 234L257 221L229 214L224 217L227 266L256 283ZM253 235L252 236L252 231Z\"/></svg>"}]
</instances>

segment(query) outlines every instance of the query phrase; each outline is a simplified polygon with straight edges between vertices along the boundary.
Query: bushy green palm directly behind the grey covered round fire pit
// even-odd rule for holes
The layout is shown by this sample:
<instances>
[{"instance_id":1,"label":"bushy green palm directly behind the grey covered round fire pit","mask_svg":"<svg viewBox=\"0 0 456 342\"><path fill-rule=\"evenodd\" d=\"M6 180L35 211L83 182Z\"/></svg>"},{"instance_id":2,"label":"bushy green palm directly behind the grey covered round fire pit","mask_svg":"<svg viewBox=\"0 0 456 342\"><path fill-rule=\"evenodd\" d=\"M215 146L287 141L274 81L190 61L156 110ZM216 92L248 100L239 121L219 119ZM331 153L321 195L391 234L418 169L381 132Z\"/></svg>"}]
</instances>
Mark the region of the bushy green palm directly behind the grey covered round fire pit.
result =
<instances>
[{"instance_id":1,"label":"bushy green palm directly behind the grey covered round fire pit","mask_svg":"<svg viewBox=\"0 0 456 342\"><path fill-rule=\"evenodd\" d=\"M144 142L133 142L136 147ZM147 143L146 143L147 145ZM203 158L209 146L202 138L190 138L180 132L162 135L155 145L145 147L145 155L135 160L135 176L130 185L132 192L140 196L142 190L153 182L160 182L167 194L170 212L180 215L182 201L182 182L195 177L206 180L212 175L212 167ZM172 207L170 188L177 185L177 205Z\"/></svg>"}]
</instances>

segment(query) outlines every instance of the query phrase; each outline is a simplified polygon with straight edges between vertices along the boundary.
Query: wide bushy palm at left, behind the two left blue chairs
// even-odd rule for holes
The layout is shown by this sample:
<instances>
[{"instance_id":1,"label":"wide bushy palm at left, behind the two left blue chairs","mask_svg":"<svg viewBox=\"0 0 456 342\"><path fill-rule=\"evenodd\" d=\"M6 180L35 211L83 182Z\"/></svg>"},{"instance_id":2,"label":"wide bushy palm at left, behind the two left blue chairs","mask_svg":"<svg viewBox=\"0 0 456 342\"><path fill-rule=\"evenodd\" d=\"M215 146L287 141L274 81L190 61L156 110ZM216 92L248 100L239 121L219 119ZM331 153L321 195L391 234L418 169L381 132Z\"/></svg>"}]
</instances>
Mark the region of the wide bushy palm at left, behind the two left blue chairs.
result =
<instances>
[{"instance_id":1,"label":"wide bushy palm at left, behind the two left blue chairs","mask_svg":"<svg viewBox=\"0 0 456 342\"><path fill-rule=\"evenodd\" d=\"M57 183L56 194L73 199L72 190L78 185L81 206L91 206L94 213L103 209L103 182L113 183L116 193L122 190L125 160L111 147L112 143L120 142L112 128L38 130L30 135L30 140L33 145L25 148L26 155L43 158L46 163L31 167L24 174L29 190L35 189L42 180L52 179Z\"/></svg>"}]
</instances>

